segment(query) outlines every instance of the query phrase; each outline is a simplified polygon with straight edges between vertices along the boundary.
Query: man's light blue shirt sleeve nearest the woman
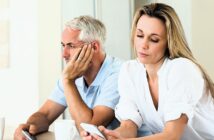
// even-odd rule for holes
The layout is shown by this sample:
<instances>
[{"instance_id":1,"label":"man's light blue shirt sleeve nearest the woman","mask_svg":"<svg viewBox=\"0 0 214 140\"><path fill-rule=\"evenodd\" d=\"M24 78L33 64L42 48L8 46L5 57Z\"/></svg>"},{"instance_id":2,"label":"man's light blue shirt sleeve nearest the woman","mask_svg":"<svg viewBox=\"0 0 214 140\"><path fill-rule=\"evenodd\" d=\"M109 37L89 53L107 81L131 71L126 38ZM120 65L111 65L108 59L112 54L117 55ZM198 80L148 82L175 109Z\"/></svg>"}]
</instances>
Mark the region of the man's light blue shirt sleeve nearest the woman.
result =
<instances>
[{"instance_id":1,"label":"man's light blue shirt sleeve nearest the woman","mask_svg":"<svg viewBox=\"0 0 214 140\"><path fill-rule=\"evenodd\" d=\"M101 84L101 89L99 93L99 97L97 97L95 106L107 106L111 109L115 109L116 104L119 100L118 94L118 73L115 72L106 78L103 83Z\"/></svg>"}]
</instances>

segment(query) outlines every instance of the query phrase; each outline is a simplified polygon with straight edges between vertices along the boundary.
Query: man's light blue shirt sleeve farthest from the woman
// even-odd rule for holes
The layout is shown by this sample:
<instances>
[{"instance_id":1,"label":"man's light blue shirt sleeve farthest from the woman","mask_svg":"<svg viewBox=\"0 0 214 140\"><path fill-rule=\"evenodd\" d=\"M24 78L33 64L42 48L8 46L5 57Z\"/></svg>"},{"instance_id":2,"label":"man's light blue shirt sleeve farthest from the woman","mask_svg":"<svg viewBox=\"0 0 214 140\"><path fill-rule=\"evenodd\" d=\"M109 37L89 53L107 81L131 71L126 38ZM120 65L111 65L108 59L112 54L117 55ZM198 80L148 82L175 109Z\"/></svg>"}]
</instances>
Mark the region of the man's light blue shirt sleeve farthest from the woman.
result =
<instances>
[{"instance_id":1,"label":"man's light blue shirt sleeve farthest from the woman","mask_svg":"<svg viewBox=\"0 0 214 140\"><path fill-rule=\"evenodd\" d=\"M58 104L61 104L65 107L67 107L66 99L65 99L65 95L64 95L64 89L63 89L63 85L62 85L62 80L57 81L52 94L49 96L49 99Z\"/></svg>"}]
</instances>

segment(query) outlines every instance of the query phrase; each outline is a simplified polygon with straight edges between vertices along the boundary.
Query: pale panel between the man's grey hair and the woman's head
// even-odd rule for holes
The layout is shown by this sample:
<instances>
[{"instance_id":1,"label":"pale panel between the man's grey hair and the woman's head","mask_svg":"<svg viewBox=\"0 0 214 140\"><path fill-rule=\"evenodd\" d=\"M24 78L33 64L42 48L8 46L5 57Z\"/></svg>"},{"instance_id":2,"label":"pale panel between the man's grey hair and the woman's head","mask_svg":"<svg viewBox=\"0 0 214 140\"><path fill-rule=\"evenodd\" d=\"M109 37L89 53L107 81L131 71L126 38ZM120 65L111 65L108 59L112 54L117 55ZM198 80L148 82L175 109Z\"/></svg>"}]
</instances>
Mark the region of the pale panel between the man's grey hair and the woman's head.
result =
<instances>
[{"instance_id":1,"label":"pale panel between the man's grey hair and the woman's head","mask_svg":"<svg viewBox=\"0 0 214 140\"><path fill-rule=\"evenodd\" d=\"M112 56L125 60L131 58L130 30L132 7L129 0L100 1L98 18L107 30L105 49Z\"/></svg>"}]
</instances>

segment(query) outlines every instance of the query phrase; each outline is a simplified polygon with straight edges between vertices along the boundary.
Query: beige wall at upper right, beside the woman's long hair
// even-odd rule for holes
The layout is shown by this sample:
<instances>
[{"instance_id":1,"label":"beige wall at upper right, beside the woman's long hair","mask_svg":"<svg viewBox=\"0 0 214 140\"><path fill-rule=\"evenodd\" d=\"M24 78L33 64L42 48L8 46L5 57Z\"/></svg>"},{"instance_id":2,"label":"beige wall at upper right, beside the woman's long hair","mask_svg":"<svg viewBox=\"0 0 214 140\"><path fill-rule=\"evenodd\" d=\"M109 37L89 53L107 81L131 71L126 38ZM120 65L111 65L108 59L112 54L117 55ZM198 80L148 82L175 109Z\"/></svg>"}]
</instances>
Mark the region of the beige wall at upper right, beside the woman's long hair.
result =
<instances>
[{"instance_id":1,"label":"beige wall at upper right, beside the woman's long hair","mask_svg":"<svg viewBox=\"0 0 214 140\"><path fill-rule=\"evenodd\" d=\"M192 0L192 42L193 52L214 80L214 1Z\"/></svg>"}]
</instances>

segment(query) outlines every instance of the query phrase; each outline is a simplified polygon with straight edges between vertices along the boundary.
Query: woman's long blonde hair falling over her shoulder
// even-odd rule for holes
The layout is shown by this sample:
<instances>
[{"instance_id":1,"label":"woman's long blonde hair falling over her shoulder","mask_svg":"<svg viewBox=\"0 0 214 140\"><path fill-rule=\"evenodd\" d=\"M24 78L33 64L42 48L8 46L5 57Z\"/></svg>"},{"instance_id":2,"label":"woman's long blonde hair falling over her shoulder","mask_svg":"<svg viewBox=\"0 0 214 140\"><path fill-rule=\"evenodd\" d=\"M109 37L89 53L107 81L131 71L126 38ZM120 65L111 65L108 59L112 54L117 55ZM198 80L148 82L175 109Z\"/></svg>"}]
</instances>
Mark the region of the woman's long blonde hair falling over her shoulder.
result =
<instances>
[{"instance_id":1,"label":"woman's long blonde hair falling over her shoulder","mask_svg":"<svg viewBox=\"0 0 214 140\"><path fill-rule=\"evenodd\" d=\"M206 71L202 68L202 66L194 58L186 41L183 27L175 10L172 7L162 3L152 3L139 8L135 13L132 23L131 43L133 48L137 23L142 15L148 15L150 17L155 17L163 21L167 30L168 48L166 51L166 55L169 57L169 59L184 57L195 63L201 70L201 73L205 80L206 91L210 92L211 96L214 99L213 81L206 73Z\"/></svg>"}]
</instances>

